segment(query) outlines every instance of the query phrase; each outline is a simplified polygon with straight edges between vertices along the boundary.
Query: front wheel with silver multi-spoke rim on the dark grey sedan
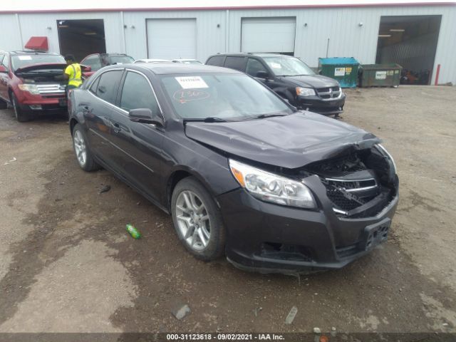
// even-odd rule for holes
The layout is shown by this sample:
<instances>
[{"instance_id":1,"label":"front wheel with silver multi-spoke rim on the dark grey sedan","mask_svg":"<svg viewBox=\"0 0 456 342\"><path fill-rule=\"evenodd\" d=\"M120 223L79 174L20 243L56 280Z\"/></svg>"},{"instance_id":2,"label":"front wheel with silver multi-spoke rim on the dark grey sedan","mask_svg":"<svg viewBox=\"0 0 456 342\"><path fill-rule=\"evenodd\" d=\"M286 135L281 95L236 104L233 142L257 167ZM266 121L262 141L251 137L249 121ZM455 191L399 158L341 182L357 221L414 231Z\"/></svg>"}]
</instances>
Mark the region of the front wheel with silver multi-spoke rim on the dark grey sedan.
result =
<instances>
[{"instance_id":1,"label":"front wheel with silver multi-spoke rim on the dark grey sedan","mask_svg":"<svg viewBox=\"0 0 456 342\"><path fill-rule=\"evenodd\" d=\"M182 244L197 259L222 257L225 229L212 196L195 177L177 183L171 198L172 222Z\"/></svg>"}]
</instances>

